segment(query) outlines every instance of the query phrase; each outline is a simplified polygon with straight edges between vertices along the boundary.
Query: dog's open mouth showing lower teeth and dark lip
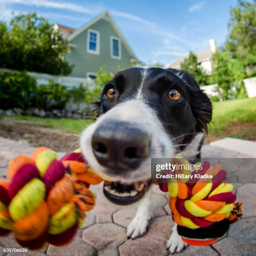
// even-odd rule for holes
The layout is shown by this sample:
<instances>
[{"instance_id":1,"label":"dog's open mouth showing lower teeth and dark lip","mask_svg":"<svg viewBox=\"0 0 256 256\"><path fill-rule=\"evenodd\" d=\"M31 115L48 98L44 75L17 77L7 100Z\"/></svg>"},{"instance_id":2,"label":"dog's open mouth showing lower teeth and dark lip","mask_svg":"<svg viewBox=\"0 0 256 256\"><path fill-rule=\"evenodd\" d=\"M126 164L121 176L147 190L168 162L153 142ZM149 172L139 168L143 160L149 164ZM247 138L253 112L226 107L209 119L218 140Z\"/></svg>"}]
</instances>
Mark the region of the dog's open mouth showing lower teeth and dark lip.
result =
<instances>
[{"instance_id":1,"label":"dog's open mouth showing lower teeth and dark lip","mask_svg":"<svg viewBox=\"0 0 256 256\"><path fill-rule=\"evenodd\" d=\"M149 185L150 180L132 184L105 181L103 194L117 205L130 205L143 197Z\"/></svg>"}]
</instances>

